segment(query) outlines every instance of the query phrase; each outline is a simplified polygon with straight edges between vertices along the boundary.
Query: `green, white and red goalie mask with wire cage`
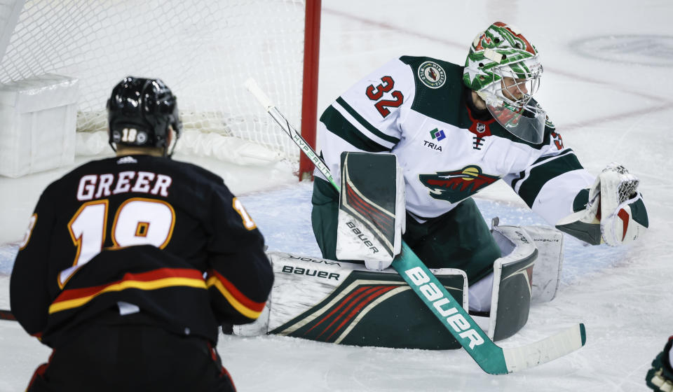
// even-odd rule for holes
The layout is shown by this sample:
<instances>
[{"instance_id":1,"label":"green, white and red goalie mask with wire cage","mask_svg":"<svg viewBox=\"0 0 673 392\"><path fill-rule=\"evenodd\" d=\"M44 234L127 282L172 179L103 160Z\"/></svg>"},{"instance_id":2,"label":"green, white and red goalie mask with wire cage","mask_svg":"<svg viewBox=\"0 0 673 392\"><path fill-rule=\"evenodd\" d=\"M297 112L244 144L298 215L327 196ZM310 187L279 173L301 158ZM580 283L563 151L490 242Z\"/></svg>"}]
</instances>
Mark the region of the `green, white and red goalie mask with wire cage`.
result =
<instances>
[{"instance_id":1,"label":"green, white and red goalie mask with wire cage","mask_svg":"<svg viewBox=\"0 0 673 392\"><path fill-rule=\"evenodd\" d=\"M533 144L540 144L545 132L546 113L533 99L541 76L536 48L503 22L477 35L463 70L463 82L484 99L498 123Z\"/></svg>"}]
</instances>

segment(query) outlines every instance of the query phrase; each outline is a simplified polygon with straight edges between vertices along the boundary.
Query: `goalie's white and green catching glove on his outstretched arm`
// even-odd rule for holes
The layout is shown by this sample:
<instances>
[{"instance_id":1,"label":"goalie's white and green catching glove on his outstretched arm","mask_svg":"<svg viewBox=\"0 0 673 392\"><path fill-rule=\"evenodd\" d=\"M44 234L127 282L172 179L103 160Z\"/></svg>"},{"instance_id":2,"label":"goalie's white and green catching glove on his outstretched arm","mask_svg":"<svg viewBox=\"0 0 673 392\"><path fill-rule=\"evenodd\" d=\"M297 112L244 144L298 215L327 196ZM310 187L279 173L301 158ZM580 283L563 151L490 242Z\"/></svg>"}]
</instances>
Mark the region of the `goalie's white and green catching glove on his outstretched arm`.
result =
<instances>
[{"instance_id":1,"label":"goalie's white and green catching glove on his outstretched arm","mask_svg":"<svg viewBox=\"0 0 673 392\"><path fill-rule=\"evenodd\" d=\"M625 167L611 163L589 189L586 208L562 218L556 228L592 245L635 241L648 227L638 184Z\"/></svg>"}]
</instances>

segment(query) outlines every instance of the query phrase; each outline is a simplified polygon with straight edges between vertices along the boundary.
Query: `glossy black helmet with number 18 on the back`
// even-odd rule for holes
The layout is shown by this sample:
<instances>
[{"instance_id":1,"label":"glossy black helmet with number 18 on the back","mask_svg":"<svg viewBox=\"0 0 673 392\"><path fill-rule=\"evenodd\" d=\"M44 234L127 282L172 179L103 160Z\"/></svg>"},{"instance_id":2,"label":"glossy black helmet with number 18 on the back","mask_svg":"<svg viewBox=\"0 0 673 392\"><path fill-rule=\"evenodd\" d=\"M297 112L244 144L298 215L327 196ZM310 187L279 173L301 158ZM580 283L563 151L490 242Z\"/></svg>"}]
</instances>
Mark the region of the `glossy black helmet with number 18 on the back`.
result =
<instances>
[{"instance_id":1,"label":"glossy black helmet with number 18 on the back","mask_svg":"<svg viewBox=\"0 0 673 392\"><path fill-rule=\"evenodd\" d=\"M182 131L177 98L161 79L128 76L121 80L107 100L107 116L109 143L115 151L119 144L158 147L170 156L166 143L170 129L175 131L175 141Z\"/></svg>"}]
</instances>

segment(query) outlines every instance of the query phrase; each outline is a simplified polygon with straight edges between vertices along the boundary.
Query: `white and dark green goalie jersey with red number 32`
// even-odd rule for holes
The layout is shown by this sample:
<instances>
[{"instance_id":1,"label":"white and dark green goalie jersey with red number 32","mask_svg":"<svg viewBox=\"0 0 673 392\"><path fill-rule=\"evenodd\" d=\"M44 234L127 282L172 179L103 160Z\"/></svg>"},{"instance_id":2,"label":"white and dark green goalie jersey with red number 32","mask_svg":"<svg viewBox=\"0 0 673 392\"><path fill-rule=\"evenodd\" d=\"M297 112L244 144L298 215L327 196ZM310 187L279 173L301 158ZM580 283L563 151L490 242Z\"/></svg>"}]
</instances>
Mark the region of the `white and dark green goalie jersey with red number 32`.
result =
<instances>
[{"instance_id":1,"label":"white and dark green goalie jersey with red number 32","mask_svg":"<svg viewBox=\"0 0 673 392\"><path fill-rule=\"evenodd\" d=\"M468 92L462 66L430 57L394 59L355 83L320 117L319 145L335 181L341 152L392 152L404 170L407 211L421 221L498 179L551 225L578 209L594 176L554 125L547 121L541 144L528 143L487 111L470 110Z\"/></svg>"}]
</instances>

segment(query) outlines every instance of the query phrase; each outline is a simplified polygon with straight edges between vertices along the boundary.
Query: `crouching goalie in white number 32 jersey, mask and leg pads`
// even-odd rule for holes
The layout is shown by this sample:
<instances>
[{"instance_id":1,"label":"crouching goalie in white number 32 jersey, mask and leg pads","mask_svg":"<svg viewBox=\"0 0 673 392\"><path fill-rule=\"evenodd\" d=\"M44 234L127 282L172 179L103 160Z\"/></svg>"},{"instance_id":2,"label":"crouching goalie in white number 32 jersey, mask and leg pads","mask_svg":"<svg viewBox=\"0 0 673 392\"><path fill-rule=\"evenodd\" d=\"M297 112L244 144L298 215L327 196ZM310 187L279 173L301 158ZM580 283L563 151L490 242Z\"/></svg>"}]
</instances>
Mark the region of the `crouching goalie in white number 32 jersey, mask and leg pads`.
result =
<instances>
[{"instance_id":1,"label":"crouching goalie in white number 32 jersey, mask and leg pads","mask_svg":"<svg viewBox=\"0 0 673 392\"><path fill-rule=\"evenodd\" d=\"M584 169L533 99L542 73L530 41L496 22L477 34L465 66L402 56L341 94L318 132L340 185L316 170L322 258L271 254L277 286L261 332L458 346L388 269L404 241L502 339L526 323L531 302L555 296L564 233L592 245L641 238L637 177L618 164L598 176ZM472 196L500 179L550 226L489 228Z\"/></svg>"}]
</instances>

